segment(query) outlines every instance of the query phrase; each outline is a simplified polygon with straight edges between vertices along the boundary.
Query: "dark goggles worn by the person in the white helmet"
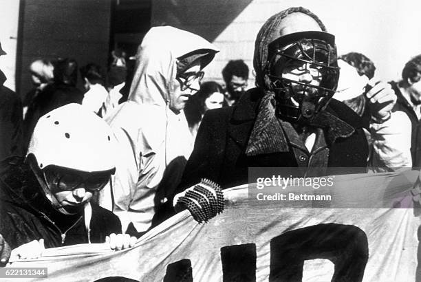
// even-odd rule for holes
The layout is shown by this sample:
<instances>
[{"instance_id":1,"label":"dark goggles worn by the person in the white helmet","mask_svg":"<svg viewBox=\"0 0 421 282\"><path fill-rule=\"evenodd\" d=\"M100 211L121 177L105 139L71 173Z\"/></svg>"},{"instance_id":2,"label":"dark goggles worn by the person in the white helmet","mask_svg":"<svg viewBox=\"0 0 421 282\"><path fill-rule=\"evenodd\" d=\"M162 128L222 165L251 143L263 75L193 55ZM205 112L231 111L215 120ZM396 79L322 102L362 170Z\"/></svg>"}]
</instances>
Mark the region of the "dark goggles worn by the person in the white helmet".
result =
<instances>
[{"instance_id":1,"label":"dark goggles worn by the person in the white helmet","mask_svg":"<svg viewBox=\"0 0 421 282\"><path fill-rule=\"evenodd\" d=\"M50 188L58 191L73 191L83 187L92 193L100 191L109 181L110 173L83 173L67 169L46 169L45 180Z\"/></svg>"}]
</instances>

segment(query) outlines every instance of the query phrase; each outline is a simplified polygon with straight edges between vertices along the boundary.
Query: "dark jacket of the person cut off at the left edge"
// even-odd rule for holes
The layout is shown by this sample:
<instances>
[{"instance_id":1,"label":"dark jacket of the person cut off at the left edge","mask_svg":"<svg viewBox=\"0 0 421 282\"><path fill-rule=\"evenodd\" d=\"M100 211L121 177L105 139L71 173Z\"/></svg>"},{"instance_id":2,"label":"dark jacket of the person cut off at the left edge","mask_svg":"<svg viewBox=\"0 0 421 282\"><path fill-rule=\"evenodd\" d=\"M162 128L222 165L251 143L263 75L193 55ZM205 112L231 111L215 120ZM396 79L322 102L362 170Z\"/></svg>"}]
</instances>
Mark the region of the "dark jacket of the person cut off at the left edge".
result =
<instances>
[{"instance_id":1,"label":"dark jacket of the person cut off at the left edge","mask_svg":"<svg viewBox=\"0 0 421 282\"><path fill-rule=\"evenodd\" d=\"M21 99L3 86L5 81L0 71L0 160L23 153Z\"/></svg>"}]
</instances>

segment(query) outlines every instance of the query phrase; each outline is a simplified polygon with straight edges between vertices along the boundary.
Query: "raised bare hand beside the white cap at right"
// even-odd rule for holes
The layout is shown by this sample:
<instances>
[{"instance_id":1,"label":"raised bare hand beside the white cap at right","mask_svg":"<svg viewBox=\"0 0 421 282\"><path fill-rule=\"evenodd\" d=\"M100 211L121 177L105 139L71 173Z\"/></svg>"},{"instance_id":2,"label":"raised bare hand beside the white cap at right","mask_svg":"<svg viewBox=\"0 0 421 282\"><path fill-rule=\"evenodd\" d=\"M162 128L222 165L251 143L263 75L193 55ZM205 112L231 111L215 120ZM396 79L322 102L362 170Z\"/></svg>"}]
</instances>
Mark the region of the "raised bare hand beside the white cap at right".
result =
<instances>
[{"instance_id":1,"label":"raised bare hand beside the white cap at right","mask_svg":"<svg viewBox=\"0 0 421 282\"><path fill-rule=\"evenodd\" d=\"M388 120L391 109L396 104L395 91L389 83L371 79L369 87L372 87L366 94L370 103L370 112L374 120L380 122Z\"/></svg>"}]
</instances>

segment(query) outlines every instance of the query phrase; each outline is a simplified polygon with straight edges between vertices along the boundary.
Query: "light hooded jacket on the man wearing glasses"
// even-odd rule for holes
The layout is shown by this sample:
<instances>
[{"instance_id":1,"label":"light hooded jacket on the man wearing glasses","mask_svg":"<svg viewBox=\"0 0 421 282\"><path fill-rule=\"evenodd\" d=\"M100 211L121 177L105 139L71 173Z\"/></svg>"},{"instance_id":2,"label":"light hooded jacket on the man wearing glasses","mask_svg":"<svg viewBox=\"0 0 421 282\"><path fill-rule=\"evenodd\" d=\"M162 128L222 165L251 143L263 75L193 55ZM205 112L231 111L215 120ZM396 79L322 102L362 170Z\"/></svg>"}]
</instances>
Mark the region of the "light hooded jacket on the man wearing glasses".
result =
<instances>
[{"instance_id":1,"label":"light hooded jacket on the man wearing glasses","mask_svg":"<svg viewBox=\"0 0 421 282\"><path fill-rule=\"evenodd\" d=\"M155 209L177 186L191 153L184 113L169 109L179 58L204 54L203 68L216 52L202 37L177 28L151 28L144 37L129 98L106 118L118 140L120 160L111 190L102 192L100 204L120 217L123 230L130 222L139 232L151 226ZM107 195L110 191L112 196Z\"/></svg>"}]
</instances>

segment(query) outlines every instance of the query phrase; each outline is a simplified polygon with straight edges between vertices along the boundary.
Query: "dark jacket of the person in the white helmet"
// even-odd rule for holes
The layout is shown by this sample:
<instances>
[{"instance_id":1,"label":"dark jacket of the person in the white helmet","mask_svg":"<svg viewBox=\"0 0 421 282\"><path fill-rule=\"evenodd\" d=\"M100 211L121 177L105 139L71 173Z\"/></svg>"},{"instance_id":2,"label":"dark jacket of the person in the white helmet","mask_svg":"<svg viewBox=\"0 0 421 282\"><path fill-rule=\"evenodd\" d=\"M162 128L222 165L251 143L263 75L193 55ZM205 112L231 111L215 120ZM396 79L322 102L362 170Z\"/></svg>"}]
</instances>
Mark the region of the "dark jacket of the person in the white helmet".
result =
<instances>
[{"instance_id":1,"label":"dark jacket of the person in the white helmet","mask_svg":"<svg viewBox=\"0 0 421 282\"><path fill-rule=\"evenodd\" d=\"M104 243L107 235L121 233L116 215L95 204L91 207L91 243ZM88 243L85 218L79 218L52 207L23 158L8 158L0 163L0 234L12 248L39 239L44 239L45 248ZM62 244L61 235L68 228Z\"/></svg>"}]
</instances>

